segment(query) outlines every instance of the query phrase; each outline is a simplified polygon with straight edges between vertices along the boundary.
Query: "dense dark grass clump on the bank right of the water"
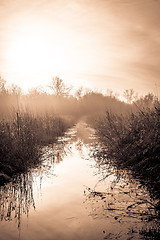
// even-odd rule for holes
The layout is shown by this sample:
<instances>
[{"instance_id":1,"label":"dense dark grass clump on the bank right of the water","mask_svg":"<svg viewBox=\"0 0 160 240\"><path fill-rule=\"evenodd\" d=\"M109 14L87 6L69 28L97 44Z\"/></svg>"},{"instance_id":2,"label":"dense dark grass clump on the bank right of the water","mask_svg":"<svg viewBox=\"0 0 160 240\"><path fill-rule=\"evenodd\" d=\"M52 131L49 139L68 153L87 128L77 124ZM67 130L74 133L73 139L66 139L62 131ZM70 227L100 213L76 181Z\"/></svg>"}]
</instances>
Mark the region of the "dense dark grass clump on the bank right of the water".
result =
<instances>
[{"instance_id":1,"label":"dense dark grass clump on the bank right of the water","mask_svg":"<svg viewBox=\"0 0 160 240\"><path fill-rule=\"evenodd\" d=\"M131 169L159 198L160 103L127 116L107 112L94 127L104 145L103 164L110 159Z\"/></svg>"}]
</instances>

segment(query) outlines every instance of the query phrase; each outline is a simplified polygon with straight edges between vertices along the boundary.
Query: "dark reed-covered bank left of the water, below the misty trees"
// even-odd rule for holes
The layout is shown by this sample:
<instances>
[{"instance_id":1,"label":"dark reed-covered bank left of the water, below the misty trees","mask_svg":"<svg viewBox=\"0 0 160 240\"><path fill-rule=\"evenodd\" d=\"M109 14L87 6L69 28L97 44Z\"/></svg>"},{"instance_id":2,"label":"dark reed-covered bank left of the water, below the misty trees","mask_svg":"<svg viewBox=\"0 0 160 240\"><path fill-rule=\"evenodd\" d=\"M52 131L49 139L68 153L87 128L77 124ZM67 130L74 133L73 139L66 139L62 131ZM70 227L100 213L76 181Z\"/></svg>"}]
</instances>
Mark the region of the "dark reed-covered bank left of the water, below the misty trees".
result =
<instances>
[{"instance_id":1,"label":"dark reed-covered bank left of the water, below the misty trees","mask_svg":"<svg viewBox=\"0 0 160 240\"><path fill-rule=\"evenodd\" d=\"M73 125L73 120L55 115L34 117L15 113L0 122L0 184L40 163L41 147L55 143Z\"/></svg>"}]
</instances>

